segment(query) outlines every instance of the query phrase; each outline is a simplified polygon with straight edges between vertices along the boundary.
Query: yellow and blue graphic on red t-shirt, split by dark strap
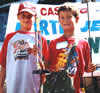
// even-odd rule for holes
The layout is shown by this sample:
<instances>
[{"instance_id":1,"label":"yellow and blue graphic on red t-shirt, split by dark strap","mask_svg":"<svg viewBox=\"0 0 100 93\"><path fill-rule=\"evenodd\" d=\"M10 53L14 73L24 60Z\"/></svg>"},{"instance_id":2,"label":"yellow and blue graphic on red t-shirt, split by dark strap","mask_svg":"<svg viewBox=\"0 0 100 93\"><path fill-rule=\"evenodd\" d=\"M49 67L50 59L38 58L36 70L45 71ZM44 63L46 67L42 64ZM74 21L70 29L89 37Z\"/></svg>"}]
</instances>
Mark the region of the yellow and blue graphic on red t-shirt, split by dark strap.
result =
<instances>
[{"instance_id":1,"label":"yellow and blue graphic on red t-shirt, split by dark strap","mask_svg":"<svg viewBox=\"0 0 100 93\"><path fill-rule=\"evenodd\" d=\"M63 52L58 53L58 56L57 56L56 68L59 70L64 69L68 61L68 56L69 56L69 48L62 49L62 51ZM67 69L67 73L75 74L77 70L77 64L78 64L78 56L77 56L77 52L74 51L74 55L72 55L69 67Z\"/></svg>"}]
</instances>

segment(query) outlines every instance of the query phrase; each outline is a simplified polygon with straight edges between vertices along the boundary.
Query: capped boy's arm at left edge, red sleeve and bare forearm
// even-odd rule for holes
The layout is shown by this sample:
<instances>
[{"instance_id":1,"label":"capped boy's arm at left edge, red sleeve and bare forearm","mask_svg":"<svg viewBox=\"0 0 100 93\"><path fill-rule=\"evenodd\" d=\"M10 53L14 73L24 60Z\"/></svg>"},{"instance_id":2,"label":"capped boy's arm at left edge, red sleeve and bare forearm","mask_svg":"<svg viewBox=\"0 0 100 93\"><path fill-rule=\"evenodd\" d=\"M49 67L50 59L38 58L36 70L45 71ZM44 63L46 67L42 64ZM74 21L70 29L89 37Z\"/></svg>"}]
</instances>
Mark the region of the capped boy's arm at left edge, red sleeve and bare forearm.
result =
<instances>
[{"instance_id":1,"label":"capped boy's arm at left edge, red sleeve and bare forearm","mask_svg":"<svg viewBox=\"0 0 100 93\"><path fill-rule=\"evenodd\" d=\"M6 76L6 57L7 57L7 47L8 42L11 39L13 35L15 35L16 32L10 33L6 36L2 49L0 51L0 93L3 93L3 85L5 82L5 76Z\"/></svg>"}]
</instances>

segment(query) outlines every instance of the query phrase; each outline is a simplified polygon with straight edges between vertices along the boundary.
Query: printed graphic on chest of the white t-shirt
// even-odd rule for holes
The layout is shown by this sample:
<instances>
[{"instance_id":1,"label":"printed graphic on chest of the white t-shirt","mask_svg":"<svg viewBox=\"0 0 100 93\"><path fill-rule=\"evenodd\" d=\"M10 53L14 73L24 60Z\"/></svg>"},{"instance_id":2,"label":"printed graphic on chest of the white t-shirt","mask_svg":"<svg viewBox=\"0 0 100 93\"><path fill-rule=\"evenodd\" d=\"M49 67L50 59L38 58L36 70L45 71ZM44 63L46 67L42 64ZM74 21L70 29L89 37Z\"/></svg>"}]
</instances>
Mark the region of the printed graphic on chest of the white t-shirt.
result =
<instances>
[{"instance_id":1,"label":"printed graphic on chest of the white t-shirt","mask_svg":"<svg viewBox=\"0 0 100 93\"><path fill-rule=\"evenodd\" d=\"M28 59L28 49L30 48L28 42L24 40L17 40L13 43L14 56L16 59Z\"/></svg>"}]
</instances>

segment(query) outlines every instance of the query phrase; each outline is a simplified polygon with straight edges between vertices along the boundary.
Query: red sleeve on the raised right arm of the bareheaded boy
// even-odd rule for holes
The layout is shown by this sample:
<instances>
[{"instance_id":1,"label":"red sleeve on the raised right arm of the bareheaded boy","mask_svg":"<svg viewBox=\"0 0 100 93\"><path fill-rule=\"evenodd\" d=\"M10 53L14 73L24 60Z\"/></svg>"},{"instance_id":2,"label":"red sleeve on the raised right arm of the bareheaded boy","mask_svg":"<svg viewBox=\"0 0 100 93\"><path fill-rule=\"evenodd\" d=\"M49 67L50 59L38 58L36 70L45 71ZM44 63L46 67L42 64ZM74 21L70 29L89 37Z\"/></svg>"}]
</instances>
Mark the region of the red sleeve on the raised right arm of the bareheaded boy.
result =
<instances>
[{"instance_id":1,"label":"red sleeve on the raised right arm of the bareheaded boy","mask_svg":"<svg viewBox=\"0 0 100 93\"><path fill-rule=\"evenodd\" d=\"M88 65L91 62L90 57L90 46L87 41L80 41L80 45L78 45L79 49L77 48L76 51L78 52L79 56L79 64L78 64L78 71L81 75L86 71L88 71Z\"/></svg>"}]
</instances>

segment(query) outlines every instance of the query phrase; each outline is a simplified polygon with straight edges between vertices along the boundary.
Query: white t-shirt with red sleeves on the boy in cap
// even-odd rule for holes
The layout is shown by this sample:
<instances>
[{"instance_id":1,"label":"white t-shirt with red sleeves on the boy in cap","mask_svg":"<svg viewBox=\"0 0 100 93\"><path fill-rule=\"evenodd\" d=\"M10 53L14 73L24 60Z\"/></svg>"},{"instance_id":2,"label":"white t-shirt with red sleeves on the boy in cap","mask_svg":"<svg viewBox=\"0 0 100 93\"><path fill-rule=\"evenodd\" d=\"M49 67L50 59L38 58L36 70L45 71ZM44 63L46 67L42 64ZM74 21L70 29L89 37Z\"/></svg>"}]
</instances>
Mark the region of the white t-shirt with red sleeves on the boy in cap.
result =
<instances>
[{"instance_id":1,"label":"white t-shirt with red sleeves on the boy in cap","mask_svg":"<svg viewBox=\"0 0 100 93\"><path fill-rule=\"evenodd\" d=\"M40 74L32 74L37 70L37 59L28 52L35 44L35 35L15 32L4 43L7 93L39 93Z\"/></svg>"}]
</instances>

